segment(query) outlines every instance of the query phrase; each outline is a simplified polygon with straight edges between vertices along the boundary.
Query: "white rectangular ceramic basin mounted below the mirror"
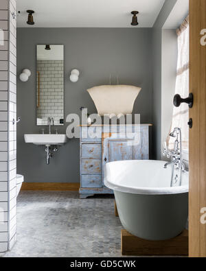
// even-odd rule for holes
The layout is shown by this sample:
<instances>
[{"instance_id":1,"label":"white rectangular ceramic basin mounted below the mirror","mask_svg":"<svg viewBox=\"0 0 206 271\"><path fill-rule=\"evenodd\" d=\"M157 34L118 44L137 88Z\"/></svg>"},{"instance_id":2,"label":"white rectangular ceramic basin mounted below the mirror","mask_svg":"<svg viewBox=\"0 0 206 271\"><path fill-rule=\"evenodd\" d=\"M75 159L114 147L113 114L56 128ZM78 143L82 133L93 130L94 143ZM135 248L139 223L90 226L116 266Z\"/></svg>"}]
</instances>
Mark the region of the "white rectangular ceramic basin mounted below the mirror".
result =
<instances>
[{"instance_id":1,"label":"white rectangular ceramic basin mounted below the mirror","mask_svg":"<svg viewBox=\"0 0 206 271\"><path fill-rule=\"evenodd\" d=\"M67 142L66 134L25 134L25 143L35 145L63 145Z\"/></svg>"}]
</instances>

